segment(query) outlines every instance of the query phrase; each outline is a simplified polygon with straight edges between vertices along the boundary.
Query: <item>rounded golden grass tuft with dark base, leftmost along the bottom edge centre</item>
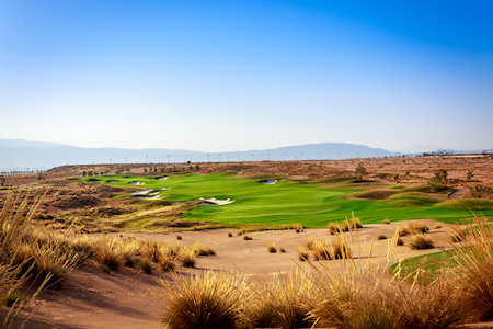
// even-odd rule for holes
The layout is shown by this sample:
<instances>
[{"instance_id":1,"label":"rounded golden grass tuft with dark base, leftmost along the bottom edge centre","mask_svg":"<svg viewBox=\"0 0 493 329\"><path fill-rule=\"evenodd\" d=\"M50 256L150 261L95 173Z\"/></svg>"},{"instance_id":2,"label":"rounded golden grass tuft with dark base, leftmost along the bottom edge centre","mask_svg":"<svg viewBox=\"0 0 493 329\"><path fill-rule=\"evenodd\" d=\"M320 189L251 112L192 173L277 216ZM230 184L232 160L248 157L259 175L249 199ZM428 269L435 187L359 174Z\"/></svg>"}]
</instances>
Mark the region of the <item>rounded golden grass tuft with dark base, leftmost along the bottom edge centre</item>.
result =
<instances>
[{"instance_id":1,"label":"rounded golden grass tuft with dark base, leftmost along the bottom edge centre","mask_svg":"<svg viewBox=\"0 0 493 329\"><path fill-rule=\"evenodd\" d=\"M154 295L164 303L163 321L171 329L236 328L242 308L244 280L211 271L190 279L160 280Z\"/></svg>"}]
</instances>

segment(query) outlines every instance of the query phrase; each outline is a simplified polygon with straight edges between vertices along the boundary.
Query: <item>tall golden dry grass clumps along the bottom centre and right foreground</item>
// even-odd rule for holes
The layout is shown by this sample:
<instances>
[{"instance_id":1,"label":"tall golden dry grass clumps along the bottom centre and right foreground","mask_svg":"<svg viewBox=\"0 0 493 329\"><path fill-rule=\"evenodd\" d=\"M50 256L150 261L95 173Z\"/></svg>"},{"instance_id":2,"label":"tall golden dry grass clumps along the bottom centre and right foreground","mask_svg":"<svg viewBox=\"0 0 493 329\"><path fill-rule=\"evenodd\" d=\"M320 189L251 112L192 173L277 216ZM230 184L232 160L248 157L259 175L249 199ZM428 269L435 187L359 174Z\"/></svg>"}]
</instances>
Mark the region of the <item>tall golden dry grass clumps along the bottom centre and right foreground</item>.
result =
<instances>
[{"instance_id":1,"label":"tall golden dry grass clumps along the bottom centre and right foreground","mask_svg":"<svg viewBox=\"0 0 493 329\"><path fill-rule=\"evenodd\" d=\"M213 328L223 315L229 328L451 328L489 320L493 230L483 220L469 224L477 227L469 242L454 245L440 271L426 282L420 268L404 274L401 263L389 274L398 234L389 239L387 262L359 262L346 252L335 268L310 262L309 252L326 243L308 238L299 252L310 265L268 282L249 283L234 273L213 272L175 277L177 287L162 282L158 295L167 305L163 320L171 328ZM347 240L339 235L339 240ZM371 257L371 248L367 256ZM217 293L219 286L223 295ZM210 318L192 316L207 305L223 308L210 313Z\"/></svg>"}]
</instances>

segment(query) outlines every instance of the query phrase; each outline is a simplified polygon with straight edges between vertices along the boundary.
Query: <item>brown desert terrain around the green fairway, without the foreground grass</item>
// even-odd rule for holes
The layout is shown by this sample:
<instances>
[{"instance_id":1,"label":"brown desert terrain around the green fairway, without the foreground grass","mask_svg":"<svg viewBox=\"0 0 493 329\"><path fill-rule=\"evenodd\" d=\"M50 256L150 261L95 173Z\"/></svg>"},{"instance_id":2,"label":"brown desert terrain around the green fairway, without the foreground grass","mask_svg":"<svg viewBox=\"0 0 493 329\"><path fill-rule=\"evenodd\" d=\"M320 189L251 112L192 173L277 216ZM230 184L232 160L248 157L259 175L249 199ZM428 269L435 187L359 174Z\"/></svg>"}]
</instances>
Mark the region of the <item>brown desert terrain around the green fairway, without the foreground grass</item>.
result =
<instances>
[{"instance_id":1,"label":"brown desert terrain around the green fairway, without the foreground grass","mask_svg":"<svg viewBox=\"0 0 493 329\"><path fill-rule=\"evenodd\" d=\"M366 172L357 173L363 164ZM45 288L31 308L35 308L33 328L163 328L162 302L156 297L161 287L159 281L173 281L175 276L200 274L207 271L228 272L244 275L250 284L267 282L276 275L287 275L293 271L313 271L326 266L337 271L344 259L308 261L299 258L300 247L310 240L336 239L328 228L305 227L297 232L295 227L280 230L256 231L255 227L242 230L238 226L218 225L197 218L188 222L184 216L196 204L173 204L162 202L147 206L146 211L165 208L159 216L169 218L169 223L156 227L129 229L115 225L114 216L130 216L142 211L142 202L129 202L115 195L127 193L127 189L107 184L89 184L82 180L89 171L100 177L113 174L159 175L193 173L207 175L232 172L244 178L264 178L270 175L290 177L299 181L314 181L324 178L360 178L386 185L414 186L426 184L436 173L446 170L447 185L455 189L447 197L492 200L493 159L490 156L475 157L416 157L378 158L322 161L287 162L221 162L221 163L151 163L151 164L94 164L66 166L43 173L9 175L3 178L4 189L0 191L0 204L3 206L9 193L19 193L20 200L27 196L43 196L32 223L36 227L62 231L71 237L92 236L113 239L151 239L169 242L179 247L193 243L206 246L215 254L199 256L193 268L180 264L175 273L163 271L157 263L151 264L151 273L145 274L139 266L121 266L110 270L94 257L88 257L80 265L67 271L64 282L57 288ZM83 174L83 172L85 172ZM470 172L468 174L468 172ZM472 173L472 174L471 174ZM133 191L133 190L129 190ZM30 201L31 202L31 201ZM33 201L34 202L34 201ZM33 203L31 202L31 203ZM145 202L144 202L145 203ZM228 205L226 205L228 206ZM119 209L112 213L108 209ZM73 225L79 218L79 229ZM118 217L119 218L119 217ZM344 218L341 218L344 219ZM491 219L491 218L489 218ZM167 219L168 220L168 219ZM164 220L165 222L165 220ZM164 223L163 222L163 223ZM402 237L403 245L394 247L387 257L389 243L395 228L411 223L425 223L426 232L433 239L431 249L413 250L411 238ZM168 223L168 222L165 222ZM329 224L329 223L328 223ZM451 248L450 234L455 224L440 223L427 218L391 222L390 224L366 224L356 231L341 232L353 250L351 262L356 266L370 264L383 269L381 275L391 275L386 264ZM299 229L298 229L299 230ZM241 234L241 235L240 235ZM251 239L244 239L248 236ZM379 239L380 236L386 238ZM277 252L267 250L268 243L275 243ZM285 252L280 252L280 248ZM371 248L371 253L370 252ZM393 247L390 246L390 249ZM277 276L276 276L277 277ZM30 309L31 309L30 308ZM475 325L474 325L475 326ZM490 328L488 324L478 325ZM478 327L479 328L479 327ZM491 327L493 328L493 327Z\"/></svg>"}]
</instances>

